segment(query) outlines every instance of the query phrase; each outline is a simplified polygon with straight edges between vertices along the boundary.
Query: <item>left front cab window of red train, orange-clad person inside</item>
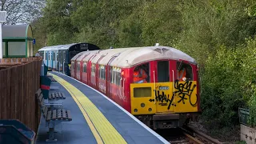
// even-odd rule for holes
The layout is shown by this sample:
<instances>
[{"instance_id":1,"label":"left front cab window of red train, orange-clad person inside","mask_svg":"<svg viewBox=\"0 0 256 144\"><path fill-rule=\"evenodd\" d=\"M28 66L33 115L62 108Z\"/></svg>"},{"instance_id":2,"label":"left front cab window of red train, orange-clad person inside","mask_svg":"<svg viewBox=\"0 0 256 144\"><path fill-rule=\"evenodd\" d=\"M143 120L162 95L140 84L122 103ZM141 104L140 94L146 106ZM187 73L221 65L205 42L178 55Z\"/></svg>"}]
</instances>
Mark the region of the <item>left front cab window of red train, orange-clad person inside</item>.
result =
<instances>
[{"instance_id":1,"label":"left front cab window of red train, orange-clad person inside","mask_svg":"<svg viewBox=\"0 0 256 144\"><path fill-rule=\"evenodd\" d=\"M134 68L134 83L150 82L150 63L136 66Z\"/></svg>"}]
</instances>

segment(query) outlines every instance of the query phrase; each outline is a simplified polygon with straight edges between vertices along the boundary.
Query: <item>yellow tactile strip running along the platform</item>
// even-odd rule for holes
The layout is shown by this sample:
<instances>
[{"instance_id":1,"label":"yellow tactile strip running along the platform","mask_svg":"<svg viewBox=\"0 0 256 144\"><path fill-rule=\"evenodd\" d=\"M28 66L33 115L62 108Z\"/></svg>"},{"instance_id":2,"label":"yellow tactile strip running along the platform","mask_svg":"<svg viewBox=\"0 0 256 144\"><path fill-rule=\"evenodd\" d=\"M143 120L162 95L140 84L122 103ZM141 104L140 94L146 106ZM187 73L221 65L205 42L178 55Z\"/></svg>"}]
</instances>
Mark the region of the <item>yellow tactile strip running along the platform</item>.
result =
<instances>
[{"instance_id":1,"label":"yellow tactile strip running along the platform","mask_svg":"<svg viewBox=\"0 0 256 144\"><path fill-rule=\"evenodd\" d=\"M94 103L91 102L85 94L72 86L69 82L66 82L63 78L60 78L55 74L51 75L53 75L54 79L65 87L72 98L74 98L74 102L78 104L79 109L82 111L82 114L90 126L90 130L94 134L97 143L126 143L126 140L122 138L122 135L115 130L114 126L111 125L102 112L98 110Z\"/></svg>"}]
</instances>

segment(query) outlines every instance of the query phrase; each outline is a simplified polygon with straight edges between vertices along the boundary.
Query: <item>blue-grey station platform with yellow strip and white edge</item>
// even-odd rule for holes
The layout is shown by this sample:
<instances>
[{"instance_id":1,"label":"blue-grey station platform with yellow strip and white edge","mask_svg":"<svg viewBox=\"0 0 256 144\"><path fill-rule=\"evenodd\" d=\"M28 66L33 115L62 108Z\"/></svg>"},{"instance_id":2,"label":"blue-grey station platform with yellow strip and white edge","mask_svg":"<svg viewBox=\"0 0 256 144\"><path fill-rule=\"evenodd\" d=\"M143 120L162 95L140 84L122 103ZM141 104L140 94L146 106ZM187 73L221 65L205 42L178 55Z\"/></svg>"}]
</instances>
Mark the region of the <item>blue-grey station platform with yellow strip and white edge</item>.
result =
<instances>
[{"instance_id":1,"label":"blue-grey station platform with yellow strip and white edge","mask_svg":"<svg viewBox=\"0 0 256 144\"><path fill-rule=\"evenodd\" d=\"M72 121L55 126L57 142L46 142L46 121L41 118L36 143L170 143L105 95L74 78L50 72L57 81L51 86L66 95L63 108Z\"/></svg>"}]
</instances>

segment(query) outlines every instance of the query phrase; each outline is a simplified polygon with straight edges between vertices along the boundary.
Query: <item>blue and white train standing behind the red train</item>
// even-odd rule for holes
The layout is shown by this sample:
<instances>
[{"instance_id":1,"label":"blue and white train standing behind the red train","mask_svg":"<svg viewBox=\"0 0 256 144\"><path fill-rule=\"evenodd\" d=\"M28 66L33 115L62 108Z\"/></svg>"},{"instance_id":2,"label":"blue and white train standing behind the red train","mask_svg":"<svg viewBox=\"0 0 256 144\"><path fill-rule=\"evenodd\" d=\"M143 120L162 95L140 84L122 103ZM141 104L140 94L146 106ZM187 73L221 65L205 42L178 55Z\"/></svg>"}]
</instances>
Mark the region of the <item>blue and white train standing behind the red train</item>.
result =
<instances>
[{"instance_id":1,"label":"blue and white train standing behind the red train","mask_svg":"<svg viewBox=\"0 0 256 144\"><path fill-rule=\"evenodd\" d=\"M100 48L90 43L72 43L46 46L38 50L38 53L44 58L44 63L50 70L57 70L63 74L70 75L71 58L86 50L100 50Z\"/></svg>"}]
</instances>

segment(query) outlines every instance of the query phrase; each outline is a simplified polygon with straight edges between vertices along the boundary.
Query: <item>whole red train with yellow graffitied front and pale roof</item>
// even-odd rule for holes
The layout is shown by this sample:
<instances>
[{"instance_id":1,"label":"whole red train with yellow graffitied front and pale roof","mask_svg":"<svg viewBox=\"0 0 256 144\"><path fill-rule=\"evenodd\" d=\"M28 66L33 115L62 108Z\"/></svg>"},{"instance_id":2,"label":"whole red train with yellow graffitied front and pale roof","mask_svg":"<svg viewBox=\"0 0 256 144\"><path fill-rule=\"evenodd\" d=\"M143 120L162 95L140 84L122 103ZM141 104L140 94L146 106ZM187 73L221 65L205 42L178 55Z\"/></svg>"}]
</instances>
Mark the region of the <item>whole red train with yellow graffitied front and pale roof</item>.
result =
<instances>
[{"instance_id":1,"label":"whole red train with yellow graffitied front and pale roof","mask_svg":"<svg viewBox=\"0 0 256 144\"><path fill-rule=\"evenodd\" d=\"M154 130L181 127L201 112L197 62L180 50L168 46L109 49L84 52L76 59L85 55L72 77Z\"/></svg>"}]
</instances>

